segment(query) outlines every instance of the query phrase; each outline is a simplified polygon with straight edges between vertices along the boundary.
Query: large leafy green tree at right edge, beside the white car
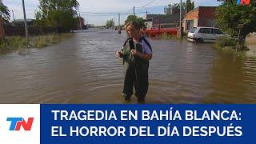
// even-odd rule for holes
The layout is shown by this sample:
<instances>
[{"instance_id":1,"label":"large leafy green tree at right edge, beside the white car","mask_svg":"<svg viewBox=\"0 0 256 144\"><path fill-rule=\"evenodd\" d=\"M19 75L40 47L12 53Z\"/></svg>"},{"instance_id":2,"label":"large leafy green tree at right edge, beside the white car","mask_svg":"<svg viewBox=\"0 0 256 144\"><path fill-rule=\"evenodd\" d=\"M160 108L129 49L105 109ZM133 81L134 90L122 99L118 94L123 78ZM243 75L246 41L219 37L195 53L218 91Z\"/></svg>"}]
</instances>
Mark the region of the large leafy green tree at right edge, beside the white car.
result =
<instances>
[{"instance_id":1,"label":"large leafy green tree at right edge, beside the white car","mask_svg":"<svg viewBox=\"0 0 256 144\"><path fill-rule=\"evenodd\" d=\"M249 6L238 6L236 0L218 0L222 5L216 10L216 25L227 34L237 37L238 24L242 24L239 44L243 44L246 35L256 31L256 2L252 1Z\"/></svg>"}]
</instances>

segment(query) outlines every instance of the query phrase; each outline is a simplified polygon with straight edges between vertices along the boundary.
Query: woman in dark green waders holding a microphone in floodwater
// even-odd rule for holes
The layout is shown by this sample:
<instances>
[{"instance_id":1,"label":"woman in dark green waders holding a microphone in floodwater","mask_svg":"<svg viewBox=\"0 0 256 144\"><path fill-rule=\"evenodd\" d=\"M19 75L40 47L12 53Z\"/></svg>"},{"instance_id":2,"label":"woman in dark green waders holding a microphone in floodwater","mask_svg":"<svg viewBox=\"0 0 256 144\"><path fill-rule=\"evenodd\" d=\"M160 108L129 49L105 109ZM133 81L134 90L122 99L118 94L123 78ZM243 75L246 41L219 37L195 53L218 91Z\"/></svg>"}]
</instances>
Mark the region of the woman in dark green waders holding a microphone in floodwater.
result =
<instances>
[{"instance_id":1,"label":"woman in dark green waders holding a microphone in floodwater","mask_svg":"<svg viewBox=\"0 0 256 144\"><path fill-rule=\"evenodd\" d=\"M128 38L122 47L117 51L118 58L123 59L125 67L125 80L122 94L126 101L134 94L138 102L144 102L149 86L148 69L149 61L152 58L152 48L149 41L140 36L138 22L131 21L126 24Z\"/></svg>"}]
</instances>

